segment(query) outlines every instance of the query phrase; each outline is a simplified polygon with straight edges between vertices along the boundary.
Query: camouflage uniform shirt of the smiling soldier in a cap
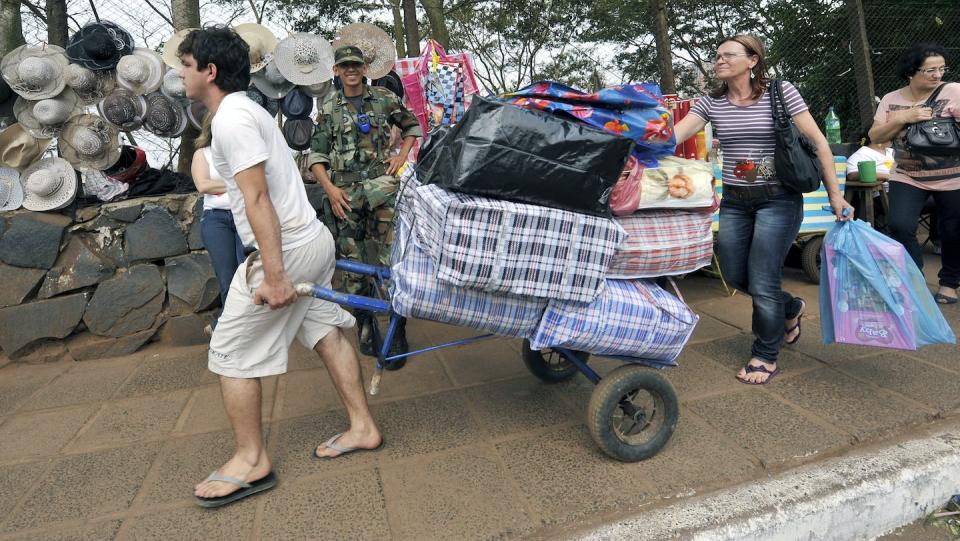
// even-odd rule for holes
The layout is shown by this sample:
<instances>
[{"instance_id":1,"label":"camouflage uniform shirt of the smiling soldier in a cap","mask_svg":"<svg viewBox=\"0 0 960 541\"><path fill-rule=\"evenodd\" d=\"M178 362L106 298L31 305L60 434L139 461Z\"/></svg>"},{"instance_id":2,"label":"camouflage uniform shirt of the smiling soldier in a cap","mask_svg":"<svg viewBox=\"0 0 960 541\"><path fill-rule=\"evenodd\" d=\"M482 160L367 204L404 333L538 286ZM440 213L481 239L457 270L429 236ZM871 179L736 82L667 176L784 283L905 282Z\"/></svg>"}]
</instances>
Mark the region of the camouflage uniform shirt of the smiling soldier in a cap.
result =
<instances>
[{"instance_id":1,"label":"camouflage uniform shirt of the smiling soldier in a cap","mask_svg":"<svg viewBox=\"0 0 960 541\"><path fill-rule=\"evenodd\" d=\"M413 113L385 88L363 86L363 111L370 122L368 133L360 132L358 111L342 90L323 100L310 143L310 167L322 163L333 171L364 171L390 156L392 126L400 128L402 137L423 135Z\"/></svg>"}]
</instances>

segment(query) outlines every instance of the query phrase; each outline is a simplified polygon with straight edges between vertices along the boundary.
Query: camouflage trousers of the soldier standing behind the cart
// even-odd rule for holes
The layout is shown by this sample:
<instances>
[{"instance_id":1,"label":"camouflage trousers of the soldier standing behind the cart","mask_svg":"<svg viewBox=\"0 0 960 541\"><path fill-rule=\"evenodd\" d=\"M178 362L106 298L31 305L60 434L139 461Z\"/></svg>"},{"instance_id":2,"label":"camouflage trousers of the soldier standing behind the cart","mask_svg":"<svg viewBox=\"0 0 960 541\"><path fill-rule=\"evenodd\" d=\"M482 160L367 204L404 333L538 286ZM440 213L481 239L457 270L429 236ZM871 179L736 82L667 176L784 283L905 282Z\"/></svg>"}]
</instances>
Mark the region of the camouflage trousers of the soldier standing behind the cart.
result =
<instances>
[{"instance_id":1,"label":"camouflage trousers of the soldier standing behind the cart","mask_svg":"<svg viewBox=\"0 0 960 541\"><path fill-rule=\"evenodd\" d=\"M334 216L329 201L324 201L324 221L336 239L337 257L390 266L393 209L397 204L398 185L396 177L384 175L339 186L350 198L346 218ZM353 295L370 294L368 278L353 273L342 273L342 282L335 283L334 287Z\"/></svg>"}]
</instances>

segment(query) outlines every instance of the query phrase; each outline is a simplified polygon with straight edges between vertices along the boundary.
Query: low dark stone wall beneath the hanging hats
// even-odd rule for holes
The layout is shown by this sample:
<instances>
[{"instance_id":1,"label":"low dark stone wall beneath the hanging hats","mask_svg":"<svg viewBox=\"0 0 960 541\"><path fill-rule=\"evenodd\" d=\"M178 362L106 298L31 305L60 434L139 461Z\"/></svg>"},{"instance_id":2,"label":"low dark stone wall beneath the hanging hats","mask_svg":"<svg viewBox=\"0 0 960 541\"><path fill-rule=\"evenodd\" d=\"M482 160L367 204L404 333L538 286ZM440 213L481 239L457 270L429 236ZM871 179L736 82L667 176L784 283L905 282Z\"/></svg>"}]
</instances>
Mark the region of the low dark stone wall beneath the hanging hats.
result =
<instances>
[{"instance_id":1,"label":"low dark stone wall beneath the hanging hats","mask_svg":"<svg viewBox=\"0 0 960 541\"><path fill-rule=\"evenodd\" d=\"M203 343L220 304L198 194L0 213L0 349L10 360L95 359L150 340Z\"/></svg>"}]
</instances>

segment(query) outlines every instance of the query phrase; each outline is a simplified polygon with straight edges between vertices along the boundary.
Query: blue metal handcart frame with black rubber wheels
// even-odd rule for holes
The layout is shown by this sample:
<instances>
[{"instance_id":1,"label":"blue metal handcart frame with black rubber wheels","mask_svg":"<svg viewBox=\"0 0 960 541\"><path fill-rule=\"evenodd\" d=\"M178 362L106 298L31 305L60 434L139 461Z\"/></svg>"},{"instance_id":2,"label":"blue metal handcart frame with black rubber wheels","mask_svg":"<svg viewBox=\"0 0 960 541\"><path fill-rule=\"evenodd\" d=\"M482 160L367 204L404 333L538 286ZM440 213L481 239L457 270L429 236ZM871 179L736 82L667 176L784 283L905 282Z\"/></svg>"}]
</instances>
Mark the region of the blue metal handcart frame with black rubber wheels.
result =
<instances>
[{"instance_id":1,"label":"blue metal handcart frame with black rubber wheels","mask_svg":"<svg viewBox=\"0 0 960 541\"><path fill-rule=\"evenodd\" d=\"M378 345L378 351L377 364L370 382L371 395L379 392L385 368L396 367L398 364L405 363L408 358L421 353L497 337L495 334L482 334L402 354L389 355L390 345L401 317L394 313L388 300L386 281L390 279L390 269L345 260L338 260L337 268L344 272L370 277L374 283L373 290L376 297L349 295L309 283L298 284L297 294L389 316L385 336L381 332L378 318L372 318L374 344ZM662 361L622 357L619 359L628 364L616 368L606 377L601 378L587 364L590 359L589 353L564 348L531 351L529 346L529 342L525 340L523 362L533 375L544 382L566 381L579 371L596 384L587 408L587 427L594 441L607 455L624 462L644 460L657 454L673 435L680 415L677 393L665 377L657 370L652 370L672 365Z\"/></svg>"}]
</instances>

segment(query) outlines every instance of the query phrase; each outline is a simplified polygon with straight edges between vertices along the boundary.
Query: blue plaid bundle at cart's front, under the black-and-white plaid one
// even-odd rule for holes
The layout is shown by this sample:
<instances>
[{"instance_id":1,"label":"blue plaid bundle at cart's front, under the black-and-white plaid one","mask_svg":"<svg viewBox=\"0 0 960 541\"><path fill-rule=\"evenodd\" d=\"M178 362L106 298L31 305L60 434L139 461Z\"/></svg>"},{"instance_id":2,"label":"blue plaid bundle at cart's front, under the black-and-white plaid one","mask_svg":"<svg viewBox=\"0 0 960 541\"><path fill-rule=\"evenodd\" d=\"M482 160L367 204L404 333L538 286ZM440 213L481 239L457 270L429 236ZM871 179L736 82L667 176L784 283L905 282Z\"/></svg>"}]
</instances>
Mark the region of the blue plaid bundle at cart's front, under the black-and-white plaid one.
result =
<instances>
[{"instance_id":1,"label":"blue plaid bundle at cart's front, under the black-and-white plaid one","mask_svg":"<svg viewBox=\"0 0 960 541\"><path fill-rule=\"evenodd\" d=\"M496 295L438 281L430 258L403 220L397 222L391 270L391 304L404 317L528 338L547 307L542 299Z\"/></svg>"}]
</instances>

